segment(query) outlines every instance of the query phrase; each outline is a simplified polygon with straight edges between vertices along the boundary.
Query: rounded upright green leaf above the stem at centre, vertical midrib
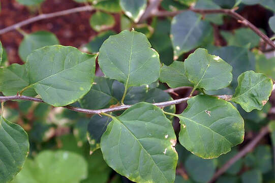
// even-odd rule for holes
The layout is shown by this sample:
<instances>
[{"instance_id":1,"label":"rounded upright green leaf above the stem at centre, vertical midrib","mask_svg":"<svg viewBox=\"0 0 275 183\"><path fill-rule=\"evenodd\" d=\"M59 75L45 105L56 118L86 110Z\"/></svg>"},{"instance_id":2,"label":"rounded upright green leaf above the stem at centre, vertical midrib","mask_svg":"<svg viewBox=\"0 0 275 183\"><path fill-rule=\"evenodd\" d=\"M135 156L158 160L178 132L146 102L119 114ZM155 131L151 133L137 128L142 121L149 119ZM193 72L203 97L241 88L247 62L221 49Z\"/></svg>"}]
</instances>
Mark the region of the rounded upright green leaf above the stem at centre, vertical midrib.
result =
<instances>
[{"instance_id":1,"label":"rounded upright green leaf above the stem at centre, vertical midrib","mask_svg":"<svg viewBox=\"0 0 275 183\"><path fill-rule=\"evenodd\" d=\"M126 89L150 84L160 76L159 54L150 47L146 36L135 31L110 36L100 48L100 68L106 77L123 82Z\"/></svg>"}]
</instances>

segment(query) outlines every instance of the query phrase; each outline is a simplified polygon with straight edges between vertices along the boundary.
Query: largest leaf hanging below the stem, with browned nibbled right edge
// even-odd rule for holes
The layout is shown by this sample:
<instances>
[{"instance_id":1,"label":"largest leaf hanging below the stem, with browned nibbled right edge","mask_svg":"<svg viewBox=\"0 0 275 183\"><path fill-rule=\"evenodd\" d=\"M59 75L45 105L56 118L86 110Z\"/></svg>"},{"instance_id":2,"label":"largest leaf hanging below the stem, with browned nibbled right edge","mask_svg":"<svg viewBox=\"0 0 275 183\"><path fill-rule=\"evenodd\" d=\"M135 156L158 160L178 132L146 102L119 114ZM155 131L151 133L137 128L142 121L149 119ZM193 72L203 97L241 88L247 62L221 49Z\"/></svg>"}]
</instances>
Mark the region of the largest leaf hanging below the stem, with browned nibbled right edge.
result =
<instances>
[{"instance_id":1,"label":"largest leaf hanging below the stem, with browned nibbled right edge","mask_svg":"<svg viewBox=\"0 0 275 183\"><path fill-rule=\"evenodd\" d=\"M162 110L142 102L112 116L101 150L106 163L132 181L174 182L175 143L173 127Z\"/></svg>"}]
</instances>

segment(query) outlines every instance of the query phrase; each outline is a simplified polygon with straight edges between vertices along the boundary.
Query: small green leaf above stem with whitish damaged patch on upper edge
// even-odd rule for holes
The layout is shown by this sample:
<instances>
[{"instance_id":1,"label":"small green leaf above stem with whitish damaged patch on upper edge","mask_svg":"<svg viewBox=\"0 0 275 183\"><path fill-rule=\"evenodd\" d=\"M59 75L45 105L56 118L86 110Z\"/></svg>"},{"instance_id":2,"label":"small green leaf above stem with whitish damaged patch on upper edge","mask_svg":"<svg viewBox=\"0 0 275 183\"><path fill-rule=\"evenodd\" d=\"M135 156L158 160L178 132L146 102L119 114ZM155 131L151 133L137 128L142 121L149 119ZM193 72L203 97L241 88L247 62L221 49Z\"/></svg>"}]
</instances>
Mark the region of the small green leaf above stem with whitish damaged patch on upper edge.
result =
<instances>
[{"instance_id":1,"label":"small green leaf above stem with whitish damaged patch on upper edge","mask_svg":"<svg viewBox=\"0 0 275 183\"><path fill-rule=\"evenodd\" d=\"M185 60L185 72L195 88L215 90L227 87L232 81L232 67L219 56L198 48Z\"/></svg>"}]
</instances>

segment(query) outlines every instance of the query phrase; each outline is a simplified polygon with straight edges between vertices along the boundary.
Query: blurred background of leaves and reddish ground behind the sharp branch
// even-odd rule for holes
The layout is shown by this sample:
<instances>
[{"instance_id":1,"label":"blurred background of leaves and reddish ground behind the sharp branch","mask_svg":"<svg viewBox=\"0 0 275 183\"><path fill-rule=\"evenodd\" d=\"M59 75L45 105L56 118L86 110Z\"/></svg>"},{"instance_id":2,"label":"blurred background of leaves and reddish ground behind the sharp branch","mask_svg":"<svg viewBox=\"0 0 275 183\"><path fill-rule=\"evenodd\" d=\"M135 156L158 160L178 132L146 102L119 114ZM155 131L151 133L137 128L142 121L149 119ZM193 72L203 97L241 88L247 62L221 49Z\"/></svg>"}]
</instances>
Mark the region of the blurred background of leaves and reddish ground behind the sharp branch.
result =
<instances>
[{"instance_id":1,"label":"blurred background of leaves and reddish ground behind the sharp branch","mask_svg":"<svg viewBox=\"0 0 275 183\"><path fill-rule=\"evenodd\" d=\"M104 1L107 2L107 5L104 4ZM178 12L191 6L209 9L205 3L207 1L163 0L158 10ZM173 62L173 46L169 38L172 16L148 16L145 20L134 22L125 15L124 11L121 11L116 0L109 1L113 3L112 6L108 6L107 0L89 2L81 0L1 0L0 2L0 32L5 27L39 14L89 5L95 7L95 10L92 11L43 19L1 33L0 40L5 48L2 67L14 63L24 64L30 52L46 45L74 46L83 52L97 53L101 44L110 35L133 27L147 36L152 48L159 52L163 64L170 65ZM36 3L29 5L29 2ZM102 2L103 4L101 4ZM261 4L261 2L264 3ZM275 11L275 1L213 0L210 9L213 4L216 9L217 7L231 9L237 4L236 12L238 14L248 19L269 38L274 35L269 19ZM251 29L238 23L236 19L222 14L203 15L202 19L210 22L211 33L208 36L209 39L198 46L208 49L211 54L219 55L233 65L233 70L237 70L236 73L255 70L275 79L275 52ZM184 61L195 49L196 47L184 52L177 60ZM98 65L96 74L103 76ZM209 94L232 95L234 87L233 83L226 89L213 91ZM149 89L154 88L158 89L157 94L160 97L145 96L146 102L154 103L187 97L192 90L190 87L167 90L169 89L168 85L161 82L154 83ZM142 86L136 87L134 90L135 94L139 94L141 97L136 101L129 99L129 104L144 101L144 95L148 95L148 90ZM144 94L145 90L147 92ZM5 117L23 127L29 135L30 142L28 160L13 182L131 182L109 168L103 160L101 150L97 149L102 131L108 124L108 118L102 119L98 115L93 116L64 108L53 108L44 103L6 102L5 105L7 106L4 111ZM78 102L73 105L83 107L83 104ZM186 106L186 103L182 103L171 106L169 110L181 113ZM109 106L87 105L87 107L99 109ZM253 110L246 113L239 106L237 108L245 119L244 142L234 147L228 154L212 160L196 157L181 145L177 145L179 161L175 182L209 182L219 168L250 144L260 130L275 119L275 94L271 95L269 102L261 111ZM171 118L171 120L173 120L175 132L178 134L180 130L178 119ZM246 156L234 163L223 175L218 177L216 182L275 182L274 144L272 141L275 140L275 134L273 133L264 134L256 147L253 146ZM50 163L46 166L45 162ZM34 168L35 164L45 166L39 172ZM42 177L40 180L36 177L38 175Z\"/></svg>"}]
</instances>

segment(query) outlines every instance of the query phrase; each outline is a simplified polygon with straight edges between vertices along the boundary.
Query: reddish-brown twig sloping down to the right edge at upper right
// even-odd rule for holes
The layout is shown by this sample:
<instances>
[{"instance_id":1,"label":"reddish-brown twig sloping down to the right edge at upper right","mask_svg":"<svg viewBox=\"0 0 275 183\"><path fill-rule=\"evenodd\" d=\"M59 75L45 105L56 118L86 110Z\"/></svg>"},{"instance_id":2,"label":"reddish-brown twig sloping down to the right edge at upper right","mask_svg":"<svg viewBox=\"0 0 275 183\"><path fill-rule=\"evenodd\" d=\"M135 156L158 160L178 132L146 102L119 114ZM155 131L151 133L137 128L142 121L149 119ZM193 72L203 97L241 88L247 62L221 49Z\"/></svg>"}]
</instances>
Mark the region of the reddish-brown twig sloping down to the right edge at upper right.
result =
<instances>
[{"instance_id":1,"label":"reddish-brown twig sloping down to the right edge at upper right","mask_svg":"<svg viewBox=\"0 0 275 183\"><path fill-rule=\"evenodd\" d=\"M200 13L200 14L215 14L215 13L223 13L227 14L233 18L235 18L239 23L248 26L252 29L258 36L260 36L267 44L269 44L273 49L275 49L275 44L265 35L263 34L255 25L253 25L250 21L246 18L242 17L238 13L234 11L234 9L189 9L193 12ZM184 11L176 11L176 12L168 12L168 11L155 11L151 15L152 16L175 16L179 13Z\"/></svg>"}]
</instances>

